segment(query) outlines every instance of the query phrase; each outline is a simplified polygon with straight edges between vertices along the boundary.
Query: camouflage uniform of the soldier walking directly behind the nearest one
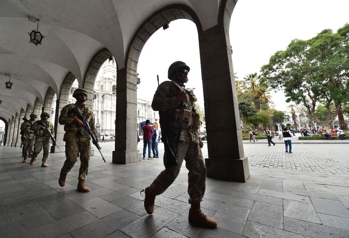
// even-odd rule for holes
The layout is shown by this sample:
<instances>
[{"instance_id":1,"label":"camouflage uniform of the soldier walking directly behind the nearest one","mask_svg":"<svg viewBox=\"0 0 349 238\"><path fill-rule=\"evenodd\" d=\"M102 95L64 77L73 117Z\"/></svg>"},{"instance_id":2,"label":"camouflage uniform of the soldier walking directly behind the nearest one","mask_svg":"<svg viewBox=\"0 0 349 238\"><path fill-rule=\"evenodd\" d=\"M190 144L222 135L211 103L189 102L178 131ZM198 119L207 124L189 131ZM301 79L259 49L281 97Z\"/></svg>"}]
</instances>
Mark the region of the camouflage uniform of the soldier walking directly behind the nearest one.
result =
<instances>
[{"instance_id":1,"label":"camouflage uniform of the soldier walking directly behind the nearest one","mask_svg":"<svg viewBox=\"0 0 349 238\"><path fill-rule=\"evenodd\" d=\"M61 169L61 173L67 174L77 161L77 154L80 153L80 169L78 180L85 180L88 176L89 161L91 156L91 136L82 133L85 132L85 128L79 128L74 123L73 120L78 118L75 113L71 110L74 107L78 107L81 114L89 122L92 132L97 136L97 130L95 127L95 116L90 108L87 106L80 106L79 104L68 104L64 106L60 112L58 122L64 125L64 137L65 141L65 157L66 160Z\"/></svg>"}]
</instances>

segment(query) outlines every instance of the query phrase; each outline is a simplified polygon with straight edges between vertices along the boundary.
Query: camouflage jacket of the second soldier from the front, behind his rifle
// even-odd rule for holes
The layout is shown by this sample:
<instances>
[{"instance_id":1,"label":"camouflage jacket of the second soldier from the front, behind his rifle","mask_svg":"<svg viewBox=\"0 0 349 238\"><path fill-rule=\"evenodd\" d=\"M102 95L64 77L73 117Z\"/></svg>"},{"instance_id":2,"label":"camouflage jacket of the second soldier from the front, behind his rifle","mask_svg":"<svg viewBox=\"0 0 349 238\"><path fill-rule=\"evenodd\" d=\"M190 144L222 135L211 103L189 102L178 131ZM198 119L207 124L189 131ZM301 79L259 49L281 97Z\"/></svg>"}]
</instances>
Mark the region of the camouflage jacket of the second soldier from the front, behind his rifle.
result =
<instances>
[{"instance_id":1,"label":"camouflage jacket of the second soldier from the front, behind his rifle","mask_svg":"<svg viewBox=\"0 0 349 238\"><path fill-rule=\"evenodd\" d=\"M94 113L92 112L92 110L87 107L87 106L81 106L78 105L77 103L75 104L68 104L65 105L61 112L60 115L58 117L58 122L61 125L64 125L64 137L63 137L63 141L86 141L86 140L91 140L91 136L90 134L87 134L85 136L83 136L81 133L84 133L86 131L86 129L84 127L79 128L74 122L73 120L75 118L78 118L78 116L72 112L72 109L74 107L78 106L81 115L86 119L86 121L88 121L91 130L93 132L93 134L95 134L95 136L97 137L97 130L95 127L95 116Z\"/></svg>"}]
</instances>

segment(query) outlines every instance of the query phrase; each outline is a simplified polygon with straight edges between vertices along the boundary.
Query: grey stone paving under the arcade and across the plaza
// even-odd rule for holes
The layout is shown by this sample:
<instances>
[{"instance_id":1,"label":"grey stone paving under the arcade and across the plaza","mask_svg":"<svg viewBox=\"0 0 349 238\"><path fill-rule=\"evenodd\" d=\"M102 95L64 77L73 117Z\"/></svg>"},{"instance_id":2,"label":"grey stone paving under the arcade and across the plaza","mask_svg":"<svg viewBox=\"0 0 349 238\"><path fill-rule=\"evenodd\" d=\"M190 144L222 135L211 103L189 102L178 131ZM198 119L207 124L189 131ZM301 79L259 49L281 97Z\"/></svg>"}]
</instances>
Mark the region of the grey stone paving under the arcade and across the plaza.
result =
<instances>
[{"instance_id":1,"label":"grey stone paving under the arcade and across the plaza","mask_svg":"<svg viewBox=\"0 0 349 238\"><path fill-rule=\"evenodd\" d=\"M349 237L349 141L294 140L293 154L274 141L272 147L244 141L246 183L207 178L201 204L217 229L188 223L185 163L148 215L140 191L163 169L162 159L112 164L114 142L103 143L107 163L95 151L86 180L91 191L79 193L79 162L59 187L64 153L50 154L41 168L40 161L21 163L20 148L1 146L0 237ZM162 143L159 151L162 156ZM207 158L206 143L203 154Z\"/></svg>"}]
</instances>

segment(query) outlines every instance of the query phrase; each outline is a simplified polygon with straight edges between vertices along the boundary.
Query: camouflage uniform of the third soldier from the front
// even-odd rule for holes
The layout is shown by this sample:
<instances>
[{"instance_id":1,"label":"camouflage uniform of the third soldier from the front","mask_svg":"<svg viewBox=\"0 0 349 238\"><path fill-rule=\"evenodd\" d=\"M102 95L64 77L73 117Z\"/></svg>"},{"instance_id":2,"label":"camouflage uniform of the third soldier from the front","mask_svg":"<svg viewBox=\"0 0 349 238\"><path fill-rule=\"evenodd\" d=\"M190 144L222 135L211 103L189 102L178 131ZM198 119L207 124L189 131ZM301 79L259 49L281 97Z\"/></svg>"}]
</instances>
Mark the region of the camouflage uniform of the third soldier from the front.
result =
<instances>
[{"instance_id":1,"label":"camouflage uniform of the third soldier from the front","mask_svg":"<svg viewBox=\"0 0 349 238\"><path fill-rule=\"evenodd\" d=\"M47 158L48 158L48 153L50 150L50 136L48 135L48 133L45 133L42 129L40 129L40 126L42 126L39 122L41 120L36 121L33 124L33 131L35 134L35 143L34 143L34 151L33 151L33 155L32 155L32 161L34 161L36 159L36 157L38 156L38 154L41 152L41 149L44 150L44 154L42 157L42 162L46 162ZM41 121L42 122L42 121ZM45 124L45 126L48 128L48 130L50 131L50 133L52 134L52 136L54 136L54 128L51 122L42 122L43 124Z\"/></svg>"}]
</instances>

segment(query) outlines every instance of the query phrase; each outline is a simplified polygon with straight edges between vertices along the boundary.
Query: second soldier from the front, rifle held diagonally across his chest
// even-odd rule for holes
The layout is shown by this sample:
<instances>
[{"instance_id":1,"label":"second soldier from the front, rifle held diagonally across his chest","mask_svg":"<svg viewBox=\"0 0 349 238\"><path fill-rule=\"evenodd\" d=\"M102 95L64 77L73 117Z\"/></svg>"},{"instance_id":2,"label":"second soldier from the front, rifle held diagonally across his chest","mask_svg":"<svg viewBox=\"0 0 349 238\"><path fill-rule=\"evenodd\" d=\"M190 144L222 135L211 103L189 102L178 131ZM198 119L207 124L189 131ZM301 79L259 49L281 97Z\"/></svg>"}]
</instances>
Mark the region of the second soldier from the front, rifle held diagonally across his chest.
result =
<instances>
[{"instance_id":1,"label":"second soldier from the front, rifle held diagonally across his chest","mask_svg":"<svg viewBox=\"0 0 349 238\"><path fill-rule=\"evenodd\" d=\"M74 107L78 107L81 112L81 115L86 118L88 121L92 132L97 138L97 130L95 127L95 116L92 110L85 106L85 101L87 100L87 91L83 88L77 88L73 97L76 98L75 104L68 104L64 106L60 112L58 122L61 125L64 125L64 137L65 141L65 157L66 160L61 169L58 183L61 187L65 185L65 179L67 173L74 166L77 161L76 157L80 153L80 169L78 176L77 191L80 192L89 192L89 187L85 186L84 181L88 175L89 161L91 156L91 136L89 133L86 133L86 129L83 126L83 123L77 115L71 110Z\"/></svg>"}]
</instances>

